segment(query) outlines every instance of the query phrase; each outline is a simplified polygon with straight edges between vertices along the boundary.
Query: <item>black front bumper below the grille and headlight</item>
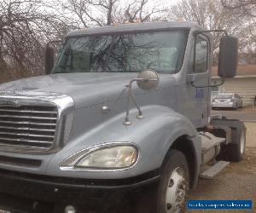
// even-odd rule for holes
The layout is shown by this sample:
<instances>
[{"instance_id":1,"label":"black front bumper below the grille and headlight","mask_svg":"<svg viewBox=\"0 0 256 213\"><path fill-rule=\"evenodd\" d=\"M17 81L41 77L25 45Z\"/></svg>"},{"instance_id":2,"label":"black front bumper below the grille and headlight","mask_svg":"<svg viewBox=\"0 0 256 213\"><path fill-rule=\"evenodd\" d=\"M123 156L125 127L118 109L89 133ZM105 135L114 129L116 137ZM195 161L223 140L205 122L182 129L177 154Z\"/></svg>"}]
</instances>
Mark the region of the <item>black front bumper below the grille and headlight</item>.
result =
<instances>
[{"instance_id":1,"label":"black front bumper below the grille and headlight","mask_svg":"<svg viewBox=\"0 0 256 213\"><path fill-rule=\"evenodd\" d=\"M84 180L0 170L0 210L64 212L67 205L73 205L78 213L84 213L103 212L113 206L124 208L144 191L156 190L159 179L158 170L123 180Z\"/></svg>"}]
</instances>

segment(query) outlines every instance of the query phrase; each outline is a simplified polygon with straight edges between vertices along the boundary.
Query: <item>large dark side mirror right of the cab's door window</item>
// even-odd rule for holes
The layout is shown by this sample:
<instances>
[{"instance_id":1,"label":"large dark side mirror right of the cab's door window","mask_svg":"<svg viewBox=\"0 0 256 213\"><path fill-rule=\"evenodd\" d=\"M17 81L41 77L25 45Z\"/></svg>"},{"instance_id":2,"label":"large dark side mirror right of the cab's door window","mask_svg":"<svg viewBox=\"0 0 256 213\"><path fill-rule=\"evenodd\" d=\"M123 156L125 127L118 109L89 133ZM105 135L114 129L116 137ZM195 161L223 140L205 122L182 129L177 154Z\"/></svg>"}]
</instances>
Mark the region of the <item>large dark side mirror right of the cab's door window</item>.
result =
<instances>
[{"instance_id":1,"label":"large dark side mirror right of the cab's door window","mask_svg":"<svg viewBox=\"0 0 256 213\"><path fill-rule=\"evenodd\" d=\"M218 76L232 78L236 76L238 39L233 36L221 37L218 54Z\"/></svg>"}]
</instances>

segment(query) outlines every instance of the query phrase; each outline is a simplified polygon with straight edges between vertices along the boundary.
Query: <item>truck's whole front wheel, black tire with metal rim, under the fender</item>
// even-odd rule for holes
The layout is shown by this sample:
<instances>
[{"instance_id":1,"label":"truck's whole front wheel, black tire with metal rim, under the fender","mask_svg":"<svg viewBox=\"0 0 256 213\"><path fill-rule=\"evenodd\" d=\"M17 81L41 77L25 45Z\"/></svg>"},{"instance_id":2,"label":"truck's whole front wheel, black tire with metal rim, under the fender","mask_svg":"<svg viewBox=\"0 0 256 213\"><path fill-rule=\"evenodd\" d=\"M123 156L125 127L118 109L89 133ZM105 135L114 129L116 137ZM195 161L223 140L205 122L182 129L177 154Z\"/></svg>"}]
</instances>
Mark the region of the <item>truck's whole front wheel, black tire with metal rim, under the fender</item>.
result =
<instances>
[{"instance_id":1,"label":"truck's whole front wheel, black tire with metal rim, under the fender","mask_svg":"<svg viewBox=\"0 0 256 213\"><path fill-rule=\"evenodd\" d=\"M170 150L161 172L157 213L184 212L189 192L189 166L183 153Z\"/></svg>"}]
</instances>

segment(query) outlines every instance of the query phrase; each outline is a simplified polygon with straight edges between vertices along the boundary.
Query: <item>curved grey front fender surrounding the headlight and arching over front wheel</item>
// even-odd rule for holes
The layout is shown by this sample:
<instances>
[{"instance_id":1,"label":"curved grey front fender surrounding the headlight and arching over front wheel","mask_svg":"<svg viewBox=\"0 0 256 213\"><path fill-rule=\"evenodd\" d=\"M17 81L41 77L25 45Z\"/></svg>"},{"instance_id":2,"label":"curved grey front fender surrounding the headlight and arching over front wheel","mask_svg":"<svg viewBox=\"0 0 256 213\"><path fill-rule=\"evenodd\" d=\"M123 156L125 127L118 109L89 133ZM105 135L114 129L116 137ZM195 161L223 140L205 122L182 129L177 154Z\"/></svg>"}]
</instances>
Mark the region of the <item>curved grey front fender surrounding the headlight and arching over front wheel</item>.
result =
<instances>
[{"instance_id":1,"label":"curved grey front fender surrounding the headlight and arching over front wheel","mask_svg":"<svg viewBox=\"0 0 256 213\"><path fill-rule=\"evenodd\" d=\"M201 156L199 154L200 141L197 140L197 131L188 118L183 117L183 115L173 111L169 107L147 106L143 107L142 110L145 117L143 119L136 118L137 109L131 110L130 118L132 124L130 126L123 125L125 118L125 113L123 112L97 125L96 128L80 134L76 138L71 137L71 141L69 141L67 146L51 159L46 174L91 179L117 179L139 176L148 171L160 169L173 141L181 135L187 135L193 141L195 156ZM95 114L88 109L84 110L84 112ZM82 114L81 117L84 118ZM78 116L78 118L81 117ZM79 123L75 122L75 124ZM77 130L78 127L74 126L73 129ZM134 144L139 151L137 164L130 169L115 170L115 172L112 172L113 170L102 172L91 170L90 172L88 170L60 170L61 162L71 154L78 153L80 150L88 147L111 142ZM200 163L199 160L198 163Z\"/></svg>"}]
</instances>

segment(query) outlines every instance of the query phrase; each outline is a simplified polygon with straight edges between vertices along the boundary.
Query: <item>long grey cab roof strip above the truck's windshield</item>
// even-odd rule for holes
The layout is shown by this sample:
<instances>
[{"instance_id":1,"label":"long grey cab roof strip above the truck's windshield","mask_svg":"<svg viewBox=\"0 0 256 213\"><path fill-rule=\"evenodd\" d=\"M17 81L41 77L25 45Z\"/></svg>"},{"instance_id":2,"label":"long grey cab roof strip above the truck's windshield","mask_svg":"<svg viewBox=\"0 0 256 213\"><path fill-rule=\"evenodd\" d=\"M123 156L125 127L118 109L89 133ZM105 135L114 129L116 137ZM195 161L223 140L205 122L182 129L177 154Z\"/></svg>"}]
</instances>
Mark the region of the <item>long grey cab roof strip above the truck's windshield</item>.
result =
<instances>
[{"instance_id":1,"label":"long grey cab roof strip above the truck's windshield","mask_svg":"<svg viewBox=\"0 0 256 213\"><path fill-rule=\"evenodd\" d=\"M100 26L84 28L78 31L73 31L67 33L67 37L85 36L93 34L108 34L115 32L145 32L145 31L162 31L171 29L186 29L191 28L197 30L206 30L205 28L199 26L195 22L189 21L157 21L157 22L146 22L146 23L129 23L116 26Z\"/></svg>"}]
</instances>

